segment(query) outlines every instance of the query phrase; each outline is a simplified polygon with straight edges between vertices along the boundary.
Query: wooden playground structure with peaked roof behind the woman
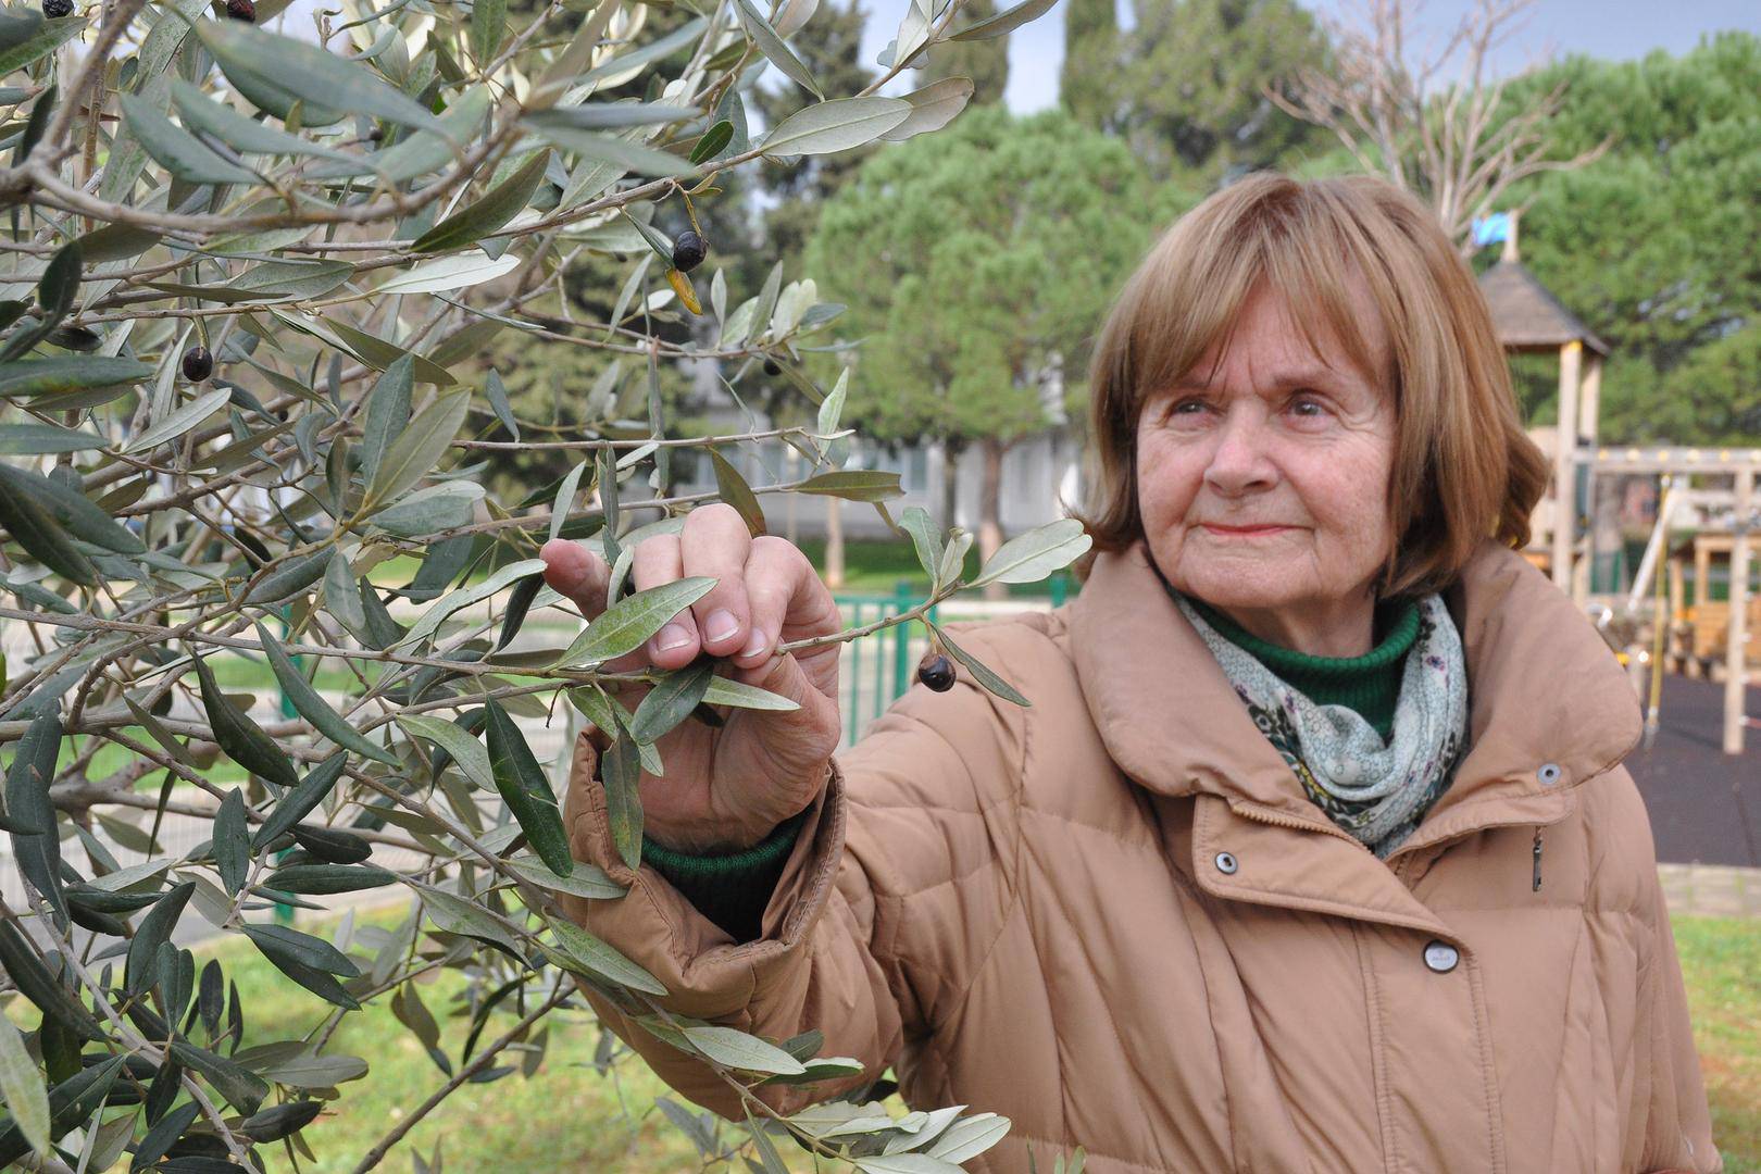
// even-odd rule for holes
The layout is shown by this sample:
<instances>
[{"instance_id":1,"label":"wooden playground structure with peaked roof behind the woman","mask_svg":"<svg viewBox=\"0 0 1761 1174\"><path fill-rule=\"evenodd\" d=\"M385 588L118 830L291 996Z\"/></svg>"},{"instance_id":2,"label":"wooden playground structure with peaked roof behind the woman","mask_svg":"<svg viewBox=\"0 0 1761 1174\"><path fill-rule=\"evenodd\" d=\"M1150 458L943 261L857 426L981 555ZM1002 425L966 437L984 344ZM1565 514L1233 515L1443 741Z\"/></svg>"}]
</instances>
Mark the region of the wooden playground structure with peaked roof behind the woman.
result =
<instances>
[{"instance_id":1,"label":"wooden playground structure with peaked roof behind the woman","mask_svg":"<svg viewBox=\"0 0 1761 1174\"><path fill-rule=\"evenodd\" d=\"M1506 350L1558 354L1558 419L1546 442L1553 456L1551 496L1534 514L1534 542L1523 554L1585 611L1590 604L1588 569L1595 558L1594 532L1578 502L1594 503L1595 479L1615 473L1661 477L1662 495L1645 558L1639 561L1627 614L1647 614L1650 649L1622 653L1650 669L1647 745L1657 729L1662 671L1724 678L1724 753L1743 753L1743 732L1761 730L1761 715L1743 709L1750 672L1761 676L1761 593L1749 579L1761 535L1761 447L1603 447L1597 444L1603 359L1608 345L1578 320L1518 260L1514 225L1504 257L1479 276L1481 292ZM1699 484L1691 486L1691 479ZM1722 486L1708 486L1717 481ZM1588 507L1585 507L1588 509ZM1692 530L1680 537L1676 530ZM1676 540L1680 537L1680 540ZM1668 547L1668 553L1664 553ZM1685 561L1694 560L1694 600L1687 602ZM1668 576L1661 567L1668 561ZM1728 595L1712 598L1713 565L1729 567ZM1669 595L1664 598L1664 579ZM1645 597L1652 595L1650 607ZM1599 627L1613 616L1603 605Z\"/></svg>"}]
</instances>

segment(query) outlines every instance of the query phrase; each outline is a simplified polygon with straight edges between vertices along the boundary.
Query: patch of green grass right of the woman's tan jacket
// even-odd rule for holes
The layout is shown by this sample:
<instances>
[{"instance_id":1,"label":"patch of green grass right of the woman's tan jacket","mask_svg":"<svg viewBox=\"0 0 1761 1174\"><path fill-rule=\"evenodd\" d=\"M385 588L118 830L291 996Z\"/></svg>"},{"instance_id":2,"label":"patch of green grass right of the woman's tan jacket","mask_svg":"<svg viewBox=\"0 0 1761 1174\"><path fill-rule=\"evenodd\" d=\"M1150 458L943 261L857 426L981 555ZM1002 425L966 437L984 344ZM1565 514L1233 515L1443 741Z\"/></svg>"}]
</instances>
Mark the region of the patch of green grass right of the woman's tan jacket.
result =
<instances>
[{"instance_id":1,"label":"patch of green grass right of the woman's tan jacket","mask_svg":"<svg viewBox=\"0 0 1761 1174\"><path fill-rule=\"evenodd\" d=\"M1761 1174L1761 921L1671 924L1724 1172Z\"/></svg>"}]
</instances>

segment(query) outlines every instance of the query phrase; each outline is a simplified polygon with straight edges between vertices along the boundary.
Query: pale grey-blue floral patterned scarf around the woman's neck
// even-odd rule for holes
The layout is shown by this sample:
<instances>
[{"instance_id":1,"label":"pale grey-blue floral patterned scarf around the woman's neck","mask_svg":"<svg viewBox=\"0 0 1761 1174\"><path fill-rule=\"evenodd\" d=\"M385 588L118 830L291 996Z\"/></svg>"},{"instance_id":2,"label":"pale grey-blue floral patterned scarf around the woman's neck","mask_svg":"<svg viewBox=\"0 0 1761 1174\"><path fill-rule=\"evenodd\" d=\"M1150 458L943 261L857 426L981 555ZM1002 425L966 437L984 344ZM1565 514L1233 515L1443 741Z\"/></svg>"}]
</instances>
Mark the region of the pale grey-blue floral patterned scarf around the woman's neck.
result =
<instances>
[{"instance_id":1,"label":"pale grey-blue floral patterned scarf around the woman's neck","mask_svg":"<svg viewBox=\"0 0 1761 1174\"><path fill-rule=\"evenodd\" d=\"M1222 637L1178 591L1169 595L1308 797L1386 861L1449 787L1467 736L1467 658L1442 597L1419 602L1419 635L1384 745L1354 709L1314 704Z\"/></svg>"}]
</instances>

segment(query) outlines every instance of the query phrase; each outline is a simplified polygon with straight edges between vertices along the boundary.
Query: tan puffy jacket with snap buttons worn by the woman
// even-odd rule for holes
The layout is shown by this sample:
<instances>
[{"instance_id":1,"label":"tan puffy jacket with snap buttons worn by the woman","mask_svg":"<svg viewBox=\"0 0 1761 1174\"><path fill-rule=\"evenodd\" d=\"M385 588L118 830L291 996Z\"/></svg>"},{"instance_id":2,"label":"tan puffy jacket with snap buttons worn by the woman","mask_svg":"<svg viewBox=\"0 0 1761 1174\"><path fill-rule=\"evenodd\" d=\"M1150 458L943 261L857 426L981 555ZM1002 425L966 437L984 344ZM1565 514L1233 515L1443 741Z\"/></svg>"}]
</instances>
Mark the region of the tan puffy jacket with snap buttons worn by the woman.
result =
<instances>
[{"instance_id":1,"label":"tan puffy jacket with snap buttons worn by the woman","mask_svg":"<svg viewBox=\"0 0 1761 1174\"><path fill-rule=\"evenodd\" d=\"M826 1033L914 1107L1013 1119L967 1169L1078 1144L1092 1174L1722 1169L1645 806L1643 720L1606 644L1493 540L1446 591L1469 752L1382 862L1259 734L1138 547L1065 607L953 632L962 671L833 762L764 936L736 945L616 857L592 741L576 859L634 889L571 899L669 1010ZM1534 889L1536 833L1541 889ZM685 1097L713 1074L595 1009Z\"/></svg>"}]
</instances>

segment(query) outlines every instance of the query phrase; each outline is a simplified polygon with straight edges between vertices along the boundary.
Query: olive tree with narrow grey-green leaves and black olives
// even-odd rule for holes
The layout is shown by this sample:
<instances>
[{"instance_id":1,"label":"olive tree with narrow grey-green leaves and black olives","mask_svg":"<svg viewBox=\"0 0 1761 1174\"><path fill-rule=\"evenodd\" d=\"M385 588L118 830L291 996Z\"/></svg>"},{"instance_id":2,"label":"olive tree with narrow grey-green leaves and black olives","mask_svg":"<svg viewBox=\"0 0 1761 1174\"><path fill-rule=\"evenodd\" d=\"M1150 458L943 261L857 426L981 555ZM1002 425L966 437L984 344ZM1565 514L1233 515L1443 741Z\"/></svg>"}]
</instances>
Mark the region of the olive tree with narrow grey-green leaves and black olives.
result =
<instances>
[{"instance_id":1,"label":"olive tree with narrow grey-green leaves and black olives","mask_svg":"<svg viewBox=\"0 0 1761 1174\"><path fill-rule=\"evenodd\" d=\"M634 544L692 507L727 502L759 532L775 495L888 517L900 493L896 475L840 466L847 380L819 387L799 363L840 306L780 266L729 289L704 264L697 209L731 169L942 127L970 86L879 92L930 46L1002 35L1048 0L983 21L962 0L912 0L880 74L842 95L787 46L815 0L350 2L312 28L289 28L292 14L261 26L284 7L0 7L14 894L0 905L0 1165L264 1169L269 1148L298 1163L368 1067L333 1046L336 1026L386 998L438 1072L359 1156L372 1169L465 1082L535 1072L539 1023L588 987L646 1007L645 1030L741 1090L733 1141L667 1102L706 1162L780 1170L792 1139L815 1163L956 1169L1007 1121L958 1107L889 1119L877 1102L784 1118L761 1086L847 1081L852 1061L819 1056L815 1031L763 1040L671 1014L652 975L564 917L562 892L622 889L571 859L558 771L528 732L555 718L567 746L585 716L660 773L655 741L678 722L787 704L703 665L671 681L606 669L711 584L629 591ZM812 100L754 127L745 95L768 67ZM616 273L593 319L556 297L588 264ZM535 310L546 297L564 310ZM527 407L541 398L516 412L479 364L491 340L518 356L509 336L611 363L571 389L565 419ZM814 424L671 435L662 371L703 363L734 396L773 366ZM803 454L803 479L748 484L727 459L771 438ZM676 493L682 449L713 463L717 493ZM507 451L567 454L567 472L497 500L479 473ZM970 535L921 510L898 528L933 590L895 621L967 586L1034 581L1087 546L1057 523L962 583ZM558 641L521 639L528 616L565 607L535 558L558 535L599 544L611 605ZM632 685L653 686L634 708L620 701ZM636 866L634 778L606 785ZM204 838L173 850L167 820L199 820ZM409 915L373 935L328 942L271 914L400 885ZM197 972L180 945L190 924L310 991L310 1023L259 1024L222 961ZM456 1060L416 982L447 968L474 991ZM241 1047L247 1024L268 1042ZM604 1061L616 1040L601 1044Z\"/></svg>"}]
</instances>

